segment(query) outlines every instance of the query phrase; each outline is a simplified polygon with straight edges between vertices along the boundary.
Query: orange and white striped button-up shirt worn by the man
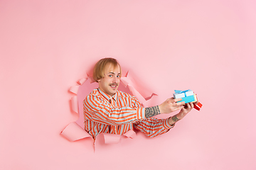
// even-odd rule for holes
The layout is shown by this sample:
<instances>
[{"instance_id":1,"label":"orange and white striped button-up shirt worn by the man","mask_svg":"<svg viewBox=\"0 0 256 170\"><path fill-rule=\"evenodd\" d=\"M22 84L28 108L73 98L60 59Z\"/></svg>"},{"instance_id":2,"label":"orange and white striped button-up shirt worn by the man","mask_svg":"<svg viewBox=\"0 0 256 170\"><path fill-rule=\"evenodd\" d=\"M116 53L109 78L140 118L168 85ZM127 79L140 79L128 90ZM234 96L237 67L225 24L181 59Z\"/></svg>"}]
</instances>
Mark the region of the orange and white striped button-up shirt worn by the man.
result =
<instances>
[{"instance_id":1,"label":"orange and white striped button-up shirt worn by the man","mask_svg":"<svg viewBox=\"0 0 256 170\"><path fill-rule=\"evenodd\" d=\"M94 140L102 132L123 135L134 128L156 137L174 127L168 119L145 118L145 108L137 98L122 91L110 96L94 89L83 101L83 113L85 130Z\"/></svg>"}]
</instances>

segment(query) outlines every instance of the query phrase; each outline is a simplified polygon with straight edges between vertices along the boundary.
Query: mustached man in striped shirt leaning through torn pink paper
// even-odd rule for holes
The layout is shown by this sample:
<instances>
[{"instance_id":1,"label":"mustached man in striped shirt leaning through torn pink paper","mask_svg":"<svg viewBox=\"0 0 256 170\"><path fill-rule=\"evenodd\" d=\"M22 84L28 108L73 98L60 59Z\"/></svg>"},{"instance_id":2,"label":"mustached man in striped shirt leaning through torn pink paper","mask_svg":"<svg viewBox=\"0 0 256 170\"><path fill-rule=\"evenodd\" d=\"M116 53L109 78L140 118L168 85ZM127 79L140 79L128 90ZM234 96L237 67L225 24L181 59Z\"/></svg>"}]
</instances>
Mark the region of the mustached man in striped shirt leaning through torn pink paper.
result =
<instances>
[{"instance_id":1,"label":"mustached man in striped shirt leaning through torn pink paper","mask_svg":"<svg viewBox=\"0 0 256 170\"><path fill-rule=\"evenodd\" d=\"M117 90L121 74L121 67L113 58L104 58L95 64L93 79L99 88L83 101L85 130L94 140L102 132L123 135L134 128L155 137L168 132L193 108L193 103L178 102L181 98L168 98L159 106L143 108L137 98ZM151 118L178 110L181 111L167 119Z\"/></svg>"}]
</instances>

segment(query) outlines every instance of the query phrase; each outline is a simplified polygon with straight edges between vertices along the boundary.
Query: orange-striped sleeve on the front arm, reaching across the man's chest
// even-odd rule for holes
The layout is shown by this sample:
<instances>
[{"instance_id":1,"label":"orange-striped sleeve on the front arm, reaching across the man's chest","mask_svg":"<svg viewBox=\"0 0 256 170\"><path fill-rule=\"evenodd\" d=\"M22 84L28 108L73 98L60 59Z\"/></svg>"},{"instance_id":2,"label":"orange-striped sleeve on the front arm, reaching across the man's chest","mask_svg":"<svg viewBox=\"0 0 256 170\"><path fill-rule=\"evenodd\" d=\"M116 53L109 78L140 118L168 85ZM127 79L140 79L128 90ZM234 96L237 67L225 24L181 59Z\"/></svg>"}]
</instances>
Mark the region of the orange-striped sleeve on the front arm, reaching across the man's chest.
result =
<instances>
[{"instance_id":1,"label":"orange-striped sleeve on the front arm, reaching across the man's chest","mask_svg":"<svg viewBox=\"0 0 256 170\"><path fill-rule=\"evenodd\" d=\"M135 123L145 118L145 108L114 107L98 95L89 95L83 101L85 118L107 125Z\"/></svg>"}]
</instances>

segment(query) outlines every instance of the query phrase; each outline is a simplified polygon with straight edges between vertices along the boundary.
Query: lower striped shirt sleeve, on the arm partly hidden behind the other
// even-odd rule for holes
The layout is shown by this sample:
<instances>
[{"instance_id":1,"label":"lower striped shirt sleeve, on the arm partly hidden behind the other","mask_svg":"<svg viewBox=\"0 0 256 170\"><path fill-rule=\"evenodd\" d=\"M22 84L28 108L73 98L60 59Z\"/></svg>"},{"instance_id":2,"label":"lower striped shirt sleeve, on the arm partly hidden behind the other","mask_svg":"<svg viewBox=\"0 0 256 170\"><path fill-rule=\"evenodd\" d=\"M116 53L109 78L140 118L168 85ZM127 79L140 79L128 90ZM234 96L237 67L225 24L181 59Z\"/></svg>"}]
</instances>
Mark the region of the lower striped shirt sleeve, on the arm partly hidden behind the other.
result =
<instances>
[{"instance_id":1,"label":"lower striped shirt sleeve, on the arm partly hidden behind the other","mask_svg":"<svg viewBox=\"0 0 256 170\"><path fill-rule=\"evenodd\" d=\"M156 137L158 135L168 132L171 128L174 128L174 125L169 125L168 118L147 118L134 123L134 128L142 131L145 135L149 137Z\"/></svg>"}]
</instances>

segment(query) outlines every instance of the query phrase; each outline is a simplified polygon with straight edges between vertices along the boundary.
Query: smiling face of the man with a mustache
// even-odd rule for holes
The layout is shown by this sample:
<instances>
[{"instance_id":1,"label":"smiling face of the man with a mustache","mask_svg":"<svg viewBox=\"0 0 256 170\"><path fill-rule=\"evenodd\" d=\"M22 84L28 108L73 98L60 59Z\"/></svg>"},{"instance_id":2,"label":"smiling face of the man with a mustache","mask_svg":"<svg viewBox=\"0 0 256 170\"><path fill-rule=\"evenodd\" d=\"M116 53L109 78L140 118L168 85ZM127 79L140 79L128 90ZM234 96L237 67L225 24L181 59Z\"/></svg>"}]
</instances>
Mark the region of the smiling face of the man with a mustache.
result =
<instances>
[{"instance_id":1,"label":"smiling face of the man with a mustache","mask_svg":"<svg viewBox=\"0 0 256 170\"><path fill-rule=\"evenodd\" d=\"M113 96L117 92L121 78L119 65L114 67L112 64L107 64L104 75L104 78L98 80L100 90L110 96Z\"/></svg>"}]
</instances>

